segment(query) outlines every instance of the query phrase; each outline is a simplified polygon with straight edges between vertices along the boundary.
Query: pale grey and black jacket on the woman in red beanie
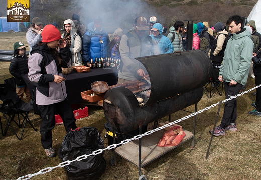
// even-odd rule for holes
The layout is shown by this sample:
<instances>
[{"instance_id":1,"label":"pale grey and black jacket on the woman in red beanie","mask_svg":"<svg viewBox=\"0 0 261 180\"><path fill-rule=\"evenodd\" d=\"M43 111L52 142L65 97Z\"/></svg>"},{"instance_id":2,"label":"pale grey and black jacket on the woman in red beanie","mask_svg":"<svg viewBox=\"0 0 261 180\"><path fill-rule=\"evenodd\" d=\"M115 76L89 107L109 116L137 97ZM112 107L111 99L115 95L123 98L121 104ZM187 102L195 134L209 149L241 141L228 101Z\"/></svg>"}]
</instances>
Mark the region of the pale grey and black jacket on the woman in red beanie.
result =
<instances>
[{"instance_id":1,"label":"pale grey and black jacket on the woman in red beanie","mask_svg":"<svg viewBox=\"0 0 261 180\"><path fill-rule=\"evenodd\" d=\"M54 82L54 75L63 76L61 67L68 68L70 66L69 48L61 48L59 55L63 60L61 66L56 64L47 45L33 47L32 55L28 61L28 78L37 83L36 104L38 105L62 102L67 97L65 82Z\"/></svg>"}]
</instances>

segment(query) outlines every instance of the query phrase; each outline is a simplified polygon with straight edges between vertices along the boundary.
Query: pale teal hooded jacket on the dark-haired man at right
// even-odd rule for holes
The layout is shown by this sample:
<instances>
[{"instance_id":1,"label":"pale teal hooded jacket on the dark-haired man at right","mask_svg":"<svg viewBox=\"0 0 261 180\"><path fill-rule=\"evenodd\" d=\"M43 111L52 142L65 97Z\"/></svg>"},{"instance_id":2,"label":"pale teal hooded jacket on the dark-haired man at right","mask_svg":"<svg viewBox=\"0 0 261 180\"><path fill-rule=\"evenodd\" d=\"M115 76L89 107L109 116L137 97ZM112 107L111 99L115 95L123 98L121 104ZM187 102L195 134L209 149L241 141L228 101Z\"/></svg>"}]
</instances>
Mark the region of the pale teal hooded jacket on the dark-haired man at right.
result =
<instances>
[{"instance_id":1,"label":"pale teal hooded jacket on the dark-haired man at right","mask_svg":"<svg viewBox=\"0 0 261 180\"><path fill-rule=\"evenodd\" d=\"M228 40L219 75L225 82L231 80L245 85L252 61L253 41L251 34L242 29Z\"/></svg>"}]
</instances>

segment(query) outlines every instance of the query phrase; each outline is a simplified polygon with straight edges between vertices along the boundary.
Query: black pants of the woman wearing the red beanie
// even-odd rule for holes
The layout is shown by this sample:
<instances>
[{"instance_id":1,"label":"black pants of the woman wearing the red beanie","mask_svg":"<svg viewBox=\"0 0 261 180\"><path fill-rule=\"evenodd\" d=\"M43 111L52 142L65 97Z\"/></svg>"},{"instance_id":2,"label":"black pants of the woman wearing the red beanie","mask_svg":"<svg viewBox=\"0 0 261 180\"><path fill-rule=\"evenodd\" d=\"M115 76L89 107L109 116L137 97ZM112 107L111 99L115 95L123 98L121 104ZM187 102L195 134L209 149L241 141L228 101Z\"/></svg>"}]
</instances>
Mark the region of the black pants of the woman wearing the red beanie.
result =
<instances>
[{"instance_id":1,"label":"black pants of the woman wearing the red beanie","mask_svg":"<svg viewBox=\"0 0 261 180\"><path fill-rule=\"evenodd\" d=\"M56 104L37 106L42 118L40 134L41 143L44 149L48 149L53 145L52 129L55 126L55 112L57 112L63 119L63 124L66 132L70 129L76 128L75 118L67 98L64 101L58 102Z\"/></svg>"}]
</instances>

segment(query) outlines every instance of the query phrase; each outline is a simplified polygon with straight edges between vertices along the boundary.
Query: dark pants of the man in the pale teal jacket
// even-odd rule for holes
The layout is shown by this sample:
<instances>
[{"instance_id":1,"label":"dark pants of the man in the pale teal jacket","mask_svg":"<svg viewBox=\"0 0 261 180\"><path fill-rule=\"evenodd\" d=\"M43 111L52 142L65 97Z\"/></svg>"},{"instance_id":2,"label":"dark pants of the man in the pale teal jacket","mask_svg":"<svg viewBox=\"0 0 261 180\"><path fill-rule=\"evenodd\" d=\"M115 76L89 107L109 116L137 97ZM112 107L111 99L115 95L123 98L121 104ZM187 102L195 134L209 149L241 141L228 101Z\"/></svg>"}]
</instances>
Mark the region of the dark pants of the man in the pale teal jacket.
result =
<instances>
[{"instance_id":1,"label":"dark pants of the man in the pale teal jacket","mask_svg":"<svg viewBox=\"0 0 261 180\"><path fill-rule=\"evenodd\" d=\"M239 94L242 86L243 85L239 84L239 83L237 83L236 85L233 85L233 86L229 86L228 82L224 82L226 99L229 99L230 97L233 97L233 96ZM220 124L220 126L222 128L226 128L226 126L228 126L229 123L235 123L236 111L237 111L236 99L237 98L234 98L232 100L225 102L224 114L223 114L223 118L222 118L222 121Z\"/></svg>"}]
</instances>

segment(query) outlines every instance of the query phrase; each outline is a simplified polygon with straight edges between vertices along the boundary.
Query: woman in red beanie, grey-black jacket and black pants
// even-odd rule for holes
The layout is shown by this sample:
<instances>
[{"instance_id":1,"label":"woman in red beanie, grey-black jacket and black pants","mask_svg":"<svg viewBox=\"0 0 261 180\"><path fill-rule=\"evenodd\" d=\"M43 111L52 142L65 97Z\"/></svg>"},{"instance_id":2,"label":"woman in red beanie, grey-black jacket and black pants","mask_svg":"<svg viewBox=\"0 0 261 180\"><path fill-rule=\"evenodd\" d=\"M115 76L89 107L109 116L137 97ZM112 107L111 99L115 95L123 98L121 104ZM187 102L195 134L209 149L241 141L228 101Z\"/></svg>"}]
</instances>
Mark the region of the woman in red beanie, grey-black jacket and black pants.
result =
<instances>
[{"instance_id":1,"label":"woman in red beanie, grey-black jacket and black pants","mask_svg":"<svg viewBox=\"0 0 261 180\"><path fill-rule=\"evenodd\" d=\"M42 118L41 143L48 157L55 156L52 147L55 112L58 112L63 119L66 132L76 128L75 118L67 100L61 68L69 67L70 63L70 49L61 39L59 30L53 25L46 25L42 31L42 41L32 49L28 61L28 78L37 83L36 104Z\"/></svg>"}]
</instances>

